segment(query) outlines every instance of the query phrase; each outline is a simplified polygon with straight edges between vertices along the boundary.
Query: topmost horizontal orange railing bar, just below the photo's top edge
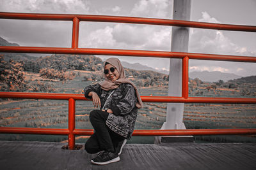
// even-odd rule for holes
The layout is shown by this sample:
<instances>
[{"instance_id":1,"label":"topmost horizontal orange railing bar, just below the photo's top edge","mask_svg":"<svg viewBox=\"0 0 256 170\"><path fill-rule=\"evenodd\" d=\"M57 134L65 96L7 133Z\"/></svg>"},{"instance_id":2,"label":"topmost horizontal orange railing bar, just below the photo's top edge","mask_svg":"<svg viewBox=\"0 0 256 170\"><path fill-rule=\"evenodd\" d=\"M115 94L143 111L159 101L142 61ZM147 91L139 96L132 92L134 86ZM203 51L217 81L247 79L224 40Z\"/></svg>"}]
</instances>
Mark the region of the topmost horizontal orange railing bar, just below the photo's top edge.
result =
<instances>
[{"instance_id":1,"label":"topmost horizontal orange railing bar, just below the photo's top edge","mask_svg":"<svg viewBox=\"0 0 256 170\"><path fill-rule=\"evenodd\" d=\"M81 21L90 22L118 22L129 24L165 25L177 27L194 27L202 29L218 29L227 31L256 32L254 25L215 24L185 20L168 20L159 18L119 17L107 15L72 15L72 14L46 14L46 13L7 13L0 12L0 18L19 20L73 20L77 17Z\"/></svg>"}]
</instances>

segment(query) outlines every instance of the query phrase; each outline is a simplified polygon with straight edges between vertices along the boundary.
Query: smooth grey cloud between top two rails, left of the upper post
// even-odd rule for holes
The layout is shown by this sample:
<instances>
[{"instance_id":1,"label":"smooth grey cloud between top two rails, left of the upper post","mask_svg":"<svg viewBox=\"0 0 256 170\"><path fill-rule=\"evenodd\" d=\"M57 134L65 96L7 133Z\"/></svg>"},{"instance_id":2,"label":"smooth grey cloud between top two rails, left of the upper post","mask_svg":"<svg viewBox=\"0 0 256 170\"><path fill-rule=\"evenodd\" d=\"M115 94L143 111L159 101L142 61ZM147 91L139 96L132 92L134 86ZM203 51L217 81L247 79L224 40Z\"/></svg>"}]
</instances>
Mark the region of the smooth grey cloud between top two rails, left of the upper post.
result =
<instances>
[{"instance_id":1,"label":"smooth grey cloud between top two rails, left of the upper post","mask_svg":"<svg viewBox=\"0 0 256 170\"><path fill-rule=\"evenodd\" d=\"M70 47L72 22L0 20L0 36L20 46Z\"/></svg>"}]
</instances>

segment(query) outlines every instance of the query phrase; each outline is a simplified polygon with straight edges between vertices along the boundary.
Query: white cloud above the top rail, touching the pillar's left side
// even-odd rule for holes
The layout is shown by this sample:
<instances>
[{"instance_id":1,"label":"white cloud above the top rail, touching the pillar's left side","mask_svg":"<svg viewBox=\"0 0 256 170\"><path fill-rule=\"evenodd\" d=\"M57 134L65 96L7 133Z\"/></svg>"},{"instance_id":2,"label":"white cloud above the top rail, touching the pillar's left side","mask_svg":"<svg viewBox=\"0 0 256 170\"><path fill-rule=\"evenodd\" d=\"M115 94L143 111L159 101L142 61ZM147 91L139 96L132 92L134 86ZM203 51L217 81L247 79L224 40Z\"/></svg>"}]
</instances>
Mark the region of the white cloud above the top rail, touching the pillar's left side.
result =
<instances>
[{"instance_id":1,"label":"white cloud above the top rail, touching the pillar's left side","mask_svg":"<svg viewBox=\"0 0 256 170\"><path fill-rule=\"evenodd\" d=\"M131 15L136 17L170 18L172 1L140 0L132 8Z\"/></svg>"}]
</instances>

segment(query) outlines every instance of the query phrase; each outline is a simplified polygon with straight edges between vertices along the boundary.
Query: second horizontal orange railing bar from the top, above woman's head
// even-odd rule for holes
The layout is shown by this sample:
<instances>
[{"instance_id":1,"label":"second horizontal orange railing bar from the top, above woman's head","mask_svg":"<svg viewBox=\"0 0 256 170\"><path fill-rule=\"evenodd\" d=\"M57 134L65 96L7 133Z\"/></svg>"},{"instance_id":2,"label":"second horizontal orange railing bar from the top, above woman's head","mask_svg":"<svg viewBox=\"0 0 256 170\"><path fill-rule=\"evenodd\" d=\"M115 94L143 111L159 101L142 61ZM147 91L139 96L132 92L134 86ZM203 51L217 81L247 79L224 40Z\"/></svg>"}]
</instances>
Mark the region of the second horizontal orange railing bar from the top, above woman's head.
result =
<instances>
[{"instance_id":1,"label":"second horizontal orange railing bar from the top, above woman's head","mask_svg":"<svg viewBox=\"0 0 256 170\"><path fill-rule=\"evenodd\" d=\"M63 53L84 55L119 55L136 57L178 58L185 56L196 60L225 60L234 62L256 62L256 57L239 55L216 55L208 53L161 52L147 50L118 50L103 48L61 48L61 47L35 47L35 46L0 46L0 52L11 53Z\"/></svg>"}]
</instances>

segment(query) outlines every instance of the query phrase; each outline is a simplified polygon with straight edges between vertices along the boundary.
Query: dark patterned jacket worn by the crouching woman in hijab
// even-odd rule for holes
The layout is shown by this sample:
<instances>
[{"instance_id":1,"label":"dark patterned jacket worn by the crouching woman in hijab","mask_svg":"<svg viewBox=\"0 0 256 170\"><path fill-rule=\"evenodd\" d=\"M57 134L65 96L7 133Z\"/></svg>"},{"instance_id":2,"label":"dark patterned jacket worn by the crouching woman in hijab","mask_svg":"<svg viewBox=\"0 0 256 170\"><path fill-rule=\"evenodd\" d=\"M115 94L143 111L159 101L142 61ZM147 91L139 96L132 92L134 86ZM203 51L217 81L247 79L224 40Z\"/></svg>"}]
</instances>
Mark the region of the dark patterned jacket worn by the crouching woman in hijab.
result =
<instances>
[{"instance_id":1,"label":"dark patterned jacket worn by the crouching woman in hijab","mask_svg":"<svg viewBox=\"0 0 256 170\"><path fill-rule=\"evenodd\" d=\"M113 90L113 94L107 100ZM138 99L134 87L129 83L122 83L118 88L113 90L103 90L99 83L97 83L85 87L84 96L91 99L92 97L88 96L89 92L96 92L100 97L100 110L102 110L102 107L106 103L105 108L109 108L113 111L113 114L109 113L106 125L108 125L109 129L112 131L130 139L134 131L138 113L138 108L135 106Z\"/></svg>"}]
</instances>

